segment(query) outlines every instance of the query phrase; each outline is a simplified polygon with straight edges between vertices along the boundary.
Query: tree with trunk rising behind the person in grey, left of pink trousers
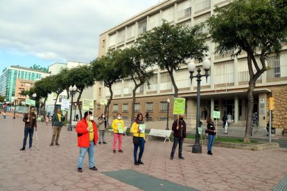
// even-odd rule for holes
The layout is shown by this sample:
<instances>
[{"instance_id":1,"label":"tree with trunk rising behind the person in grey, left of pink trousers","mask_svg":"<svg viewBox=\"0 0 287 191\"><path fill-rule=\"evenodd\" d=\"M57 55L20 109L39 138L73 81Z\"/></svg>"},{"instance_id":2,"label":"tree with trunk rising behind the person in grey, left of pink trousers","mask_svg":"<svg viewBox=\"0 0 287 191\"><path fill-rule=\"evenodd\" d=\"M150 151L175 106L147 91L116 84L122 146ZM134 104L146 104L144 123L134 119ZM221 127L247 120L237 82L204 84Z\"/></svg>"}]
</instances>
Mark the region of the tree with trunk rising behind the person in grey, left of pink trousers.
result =
<instances>
[{"instance_id":1,"label":"tree with trunk rising behind the person in grey, left of pink trousers","mask_svg":"<svg viewBox=\"0 0 287 191\"><path fill-rule=\"evenodd\" d=\"M121 79L123 79L123 69L119 64L116 63L116 59L119 59L119 50L109 51L107 55L98 57L96 60L91 62L92 70L96 81L102 83L105 87L110 90L110 98L105 106L104 113L107 112L110 103L112 102L113 91L112 85Z\"/></svg>"}]
</instances>

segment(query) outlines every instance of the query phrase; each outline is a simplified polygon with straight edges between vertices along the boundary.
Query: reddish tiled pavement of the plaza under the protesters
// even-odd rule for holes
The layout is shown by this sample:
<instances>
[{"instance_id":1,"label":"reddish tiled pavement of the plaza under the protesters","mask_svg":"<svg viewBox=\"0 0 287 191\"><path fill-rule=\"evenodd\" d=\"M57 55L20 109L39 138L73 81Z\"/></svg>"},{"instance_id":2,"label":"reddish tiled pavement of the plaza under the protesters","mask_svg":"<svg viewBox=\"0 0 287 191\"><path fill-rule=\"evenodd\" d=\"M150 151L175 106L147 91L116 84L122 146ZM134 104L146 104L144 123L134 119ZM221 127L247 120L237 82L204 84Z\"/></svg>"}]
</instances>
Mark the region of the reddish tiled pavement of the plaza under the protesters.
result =
<instances>
[{"instance_id":1,"label":"reddish tiled pavement of the plaza under the protesters","mask_svg":"<svg viewBox=\"0 0 287 191\"><path fill-rule=\"evenodd\" d=\"M123 137L123 153L112 153L112 135L106 134L107 145L96 147L98 172L89 170L87 155L83 172L77 171L77 136L63 127L60 146L50 147L51 124L38 123L37 151L19 151L24 123L21 118L0 121L0 190L139 190L105 176L101 172L135 170L159 179L198 190L272 190L287 172L287 149L247 151L214 147L213 156L192 154L184 143L184 160L169 159L172 143L148 140L142 161L134 166L132 137ZM28 141L27 141L28 143ZM28 145L28 144L27 144ZM177 154L177 152L175 153Z\"/></svg>"}]
</instances>

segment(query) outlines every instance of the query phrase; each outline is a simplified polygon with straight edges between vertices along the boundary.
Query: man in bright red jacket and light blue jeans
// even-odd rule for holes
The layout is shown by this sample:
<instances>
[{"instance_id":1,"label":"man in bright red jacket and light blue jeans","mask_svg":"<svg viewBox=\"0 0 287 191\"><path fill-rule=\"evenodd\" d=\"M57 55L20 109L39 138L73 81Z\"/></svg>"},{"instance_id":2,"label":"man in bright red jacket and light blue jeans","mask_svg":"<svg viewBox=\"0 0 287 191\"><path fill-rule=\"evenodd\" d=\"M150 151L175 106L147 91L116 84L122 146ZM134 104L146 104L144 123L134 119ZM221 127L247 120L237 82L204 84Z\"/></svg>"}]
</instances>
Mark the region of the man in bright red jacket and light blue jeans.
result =
<instances>
[{"instance_id":1,"label":"man in bright red jacket and light blue jeans","mask_svg":"<svg viewBox=\"0 0 287 191\"><path fill-rule=\"evenodd\" d=\"M94 122L92 111L86 111L84 118L76 125L78 133L78 147L80 147L80 155L78 158L78 172L82 172L82 163L84 162L85 154L89 154L89 169L98 170L94 163L95 145L98 141L98 130Z\"/></svg>"}]
</instances>

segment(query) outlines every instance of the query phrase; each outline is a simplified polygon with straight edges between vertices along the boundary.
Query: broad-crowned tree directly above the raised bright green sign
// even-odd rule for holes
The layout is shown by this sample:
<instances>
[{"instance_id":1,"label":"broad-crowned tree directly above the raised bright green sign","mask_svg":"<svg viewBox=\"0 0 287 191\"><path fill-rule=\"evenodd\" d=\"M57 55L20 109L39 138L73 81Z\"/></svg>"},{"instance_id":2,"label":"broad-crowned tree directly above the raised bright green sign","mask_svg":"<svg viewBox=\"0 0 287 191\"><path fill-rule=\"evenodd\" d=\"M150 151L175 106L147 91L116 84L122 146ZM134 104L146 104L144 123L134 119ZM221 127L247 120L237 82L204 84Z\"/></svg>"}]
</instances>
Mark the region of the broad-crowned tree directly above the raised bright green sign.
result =
<instances>
[{"instance_id":1,"label":"broad-crowned tree directly above the raised bright green sign","mask_svg":"<svg viewBox=\"0 0 287 191\"><path fill-rule=\"evenodd\" d=\"M186 64L188 59L202 60L208 47L205 45L206 35L197 33L200 26L188 28L184 25L171 25L164 21L162 26L143 33L136 45L143 53L147 64L157 64L159 69L168 71L177 98L177 85L173 71Z\"/></svg>"}]
</instances>

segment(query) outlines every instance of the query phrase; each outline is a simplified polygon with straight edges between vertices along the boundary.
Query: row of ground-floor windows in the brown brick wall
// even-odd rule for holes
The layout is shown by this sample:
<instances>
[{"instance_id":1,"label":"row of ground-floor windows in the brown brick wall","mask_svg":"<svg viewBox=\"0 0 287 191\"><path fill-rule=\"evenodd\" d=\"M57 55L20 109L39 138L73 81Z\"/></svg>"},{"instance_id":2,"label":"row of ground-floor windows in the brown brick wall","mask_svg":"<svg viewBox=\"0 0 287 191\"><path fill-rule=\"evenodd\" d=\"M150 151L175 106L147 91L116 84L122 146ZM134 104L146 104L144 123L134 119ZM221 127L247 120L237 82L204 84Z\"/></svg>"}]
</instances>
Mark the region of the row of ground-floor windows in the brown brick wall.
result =
<instances>
[{"instance_id":1,"label":"row of ground-floor windows in the brown brick wall","mask_svg":"<svg viewBox=\"0 0 287 191\"><path fill-rule=\"evenodd\" d=\"M101 109L101 104L98 104L97 109ZM146 102L146 111L150 112L153 111L153 102ZM134 104L134 111L139 112L142 111L141 109L141 104L140 103L135 103ZM168 110L168 103L167 102L160 102L159 104L159 111L167 111ZM119 104L113 104L112 105L112 111L113 112L119 112ZM123 112L128 112L128 104L123 104L122 105L122 111Z\"/></svg>"}]
</instances>

